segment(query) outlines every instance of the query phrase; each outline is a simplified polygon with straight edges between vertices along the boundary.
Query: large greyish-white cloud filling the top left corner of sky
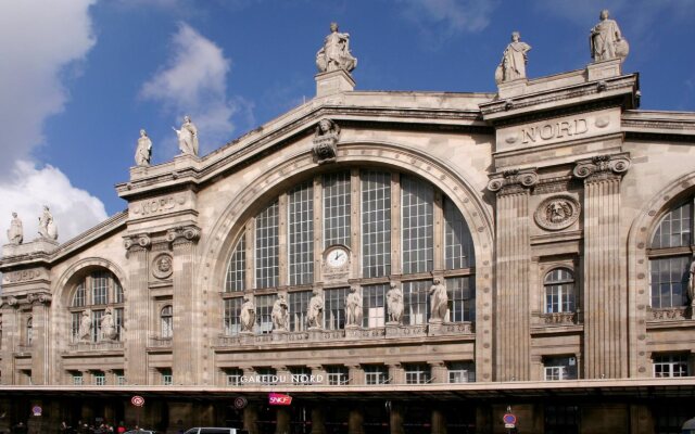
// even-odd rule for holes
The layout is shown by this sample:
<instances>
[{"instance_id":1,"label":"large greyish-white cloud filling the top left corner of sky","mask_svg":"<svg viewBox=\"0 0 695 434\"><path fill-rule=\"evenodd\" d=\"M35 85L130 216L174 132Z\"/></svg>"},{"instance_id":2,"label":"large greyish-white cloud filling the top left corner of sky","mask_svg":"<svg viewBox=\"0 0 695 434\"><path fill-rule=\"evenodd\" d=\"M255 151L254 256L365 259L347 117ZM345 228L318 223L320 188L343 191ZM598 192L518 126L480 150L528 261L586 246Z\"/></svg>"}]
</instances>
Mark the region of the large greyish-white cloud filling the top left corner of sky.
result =
<instances>
[{"instance_id":1,"label":"large greyish-white cloud filling the top left corner of sky","mask_svg":"<svg viewBox=\"0 0 695 434\"><path fill-rule=\"evenodd\" d=\"M0 174L43 143L43 122L67 100L65 68L96 43L93 0L11 1L0 14ZM0 175L0 179L3 175Z\"/></svg>"}]
</instances>

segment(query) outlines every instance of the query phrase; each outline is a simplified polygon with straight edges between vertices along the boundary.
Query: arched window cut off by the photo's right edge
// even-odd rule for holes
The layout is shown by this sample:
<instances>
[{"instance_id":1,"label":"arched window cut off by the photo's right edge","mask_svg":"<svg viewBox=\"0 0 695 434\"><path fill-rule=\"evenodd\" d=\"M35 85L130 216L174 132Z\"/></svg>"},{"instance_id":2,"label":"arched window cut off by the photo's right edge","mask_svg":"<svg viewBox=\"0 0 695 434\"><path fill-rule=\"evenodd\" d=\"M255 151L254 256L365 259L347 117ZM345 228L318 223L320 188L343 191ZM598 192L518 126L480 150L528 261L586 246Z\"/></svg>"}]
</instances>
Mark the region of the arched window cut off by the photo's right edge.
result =
<instances>
[{"instance_id":1,"label":"arched window cut off by the photo's right edge","mask_svg":"<svg viewBox=\"0 0 695 434\"><path fill-rule=\"evenodd\" d=\"M652 308L685 306L693 252L691 196L664 216L652 237L648 250Z\"/></svg>"}]
</instances>

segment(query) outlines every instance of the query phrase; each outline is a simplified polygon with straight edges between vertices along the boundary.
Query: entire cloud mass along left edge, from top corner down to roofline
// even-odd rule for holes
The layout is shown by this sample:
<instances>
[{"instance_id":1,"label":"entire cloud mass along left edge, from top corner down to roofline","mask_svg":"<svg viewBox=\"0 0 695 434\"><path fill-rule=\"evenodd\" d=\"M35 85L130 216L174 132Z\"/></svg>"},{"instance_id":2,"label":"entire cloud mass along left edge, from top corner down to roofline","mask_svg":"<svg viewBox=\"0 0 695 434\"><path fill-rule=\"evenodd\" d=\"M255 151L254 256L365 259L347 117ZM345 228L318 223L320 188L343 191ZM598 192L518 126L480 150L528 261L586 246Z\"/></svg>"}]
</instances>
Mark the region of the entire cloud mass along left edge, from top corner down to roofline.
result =
<instances>
[{"instance_id":1,"label":"entire cloud mass along left edge, from top corner down to roofline","mask_svg":"<svg viewBox=\"0 0 695 434\"><path fill-rule=\"evenodd\" d=\"M64 110L66 82L74 79L96 44L89 8L94 0L13 1L0 17L0 238L7 241L11 212L35 238L37 217L48 204L65 241L106 217L103 204L72 186L56 167L40 167L31 151L46 143L43 123Z\"/></svg>"}]
</instances>

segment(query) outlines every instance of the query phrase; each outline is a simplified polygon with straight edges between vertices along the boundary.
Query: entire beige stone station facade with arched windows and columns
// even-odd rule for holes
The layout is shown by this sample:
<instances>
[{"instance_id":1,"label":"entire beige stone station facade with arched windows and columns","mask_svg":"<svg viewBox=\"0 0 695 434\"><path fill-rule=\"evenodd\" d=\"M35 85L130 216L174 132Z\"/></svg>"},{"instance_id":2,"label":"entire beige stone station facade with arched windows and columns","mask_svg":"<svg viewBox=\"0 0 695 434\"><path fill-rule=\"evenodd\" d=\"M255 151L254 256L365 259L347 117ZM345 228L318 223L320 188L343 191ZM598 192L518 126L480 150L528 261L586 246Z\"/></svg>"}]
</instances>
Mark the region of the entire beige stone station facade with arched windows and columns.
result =
<instances>
[{"instance_id":1,"label":"entire beige stone station facade with arched windows and columns","mask_svg":"<svg viewBox=\"0 0 695 434\"><path fill-rule=\"evenodd\" d=\"M79 237L3 246L0 426L502 433L511 412L519 432L667 433L695 416L695 113L640 111L618 59L496 93L316 81L208 155L131 168L128 209Z\"/></svg>"}]
</instances>

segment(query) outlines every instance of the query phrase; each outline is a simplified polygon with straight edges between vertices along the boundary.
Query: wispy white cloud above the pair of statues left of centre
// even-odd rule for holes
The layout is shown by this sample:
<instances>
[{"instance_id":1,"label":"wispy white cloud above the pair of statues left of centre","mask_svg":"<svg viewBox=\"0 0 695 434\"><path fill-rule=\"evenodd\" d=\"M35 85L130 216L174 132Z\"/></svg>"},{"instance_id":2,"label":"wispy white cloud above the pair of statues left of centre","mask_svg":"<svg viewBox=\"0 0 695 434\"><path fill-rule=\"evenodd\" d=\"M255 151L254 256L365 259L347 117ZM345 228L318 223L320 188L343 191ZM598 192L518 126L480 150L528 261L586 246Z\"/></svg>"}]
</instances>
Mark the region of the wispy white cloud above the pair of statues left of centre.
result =
<instances>
[{"instance_id":1,"label":"wispy white cloud above the pair of statues left of centre","mask_svg":"<svg viewBox=\"0 0 695 434\"><path fill-rule=\"evenodd\" d=\"M231 61L185 23L172 38L170 52L167 64L142 86L140 95L162 103L167 114L176 116L177 125L184 115L190 115L200 132L201 148L210 151L229 140L231 116L243 104L227 97Z\"/></svg>"}]
</instances>

